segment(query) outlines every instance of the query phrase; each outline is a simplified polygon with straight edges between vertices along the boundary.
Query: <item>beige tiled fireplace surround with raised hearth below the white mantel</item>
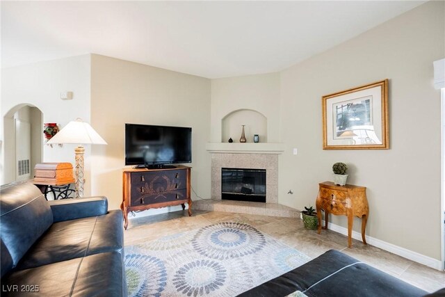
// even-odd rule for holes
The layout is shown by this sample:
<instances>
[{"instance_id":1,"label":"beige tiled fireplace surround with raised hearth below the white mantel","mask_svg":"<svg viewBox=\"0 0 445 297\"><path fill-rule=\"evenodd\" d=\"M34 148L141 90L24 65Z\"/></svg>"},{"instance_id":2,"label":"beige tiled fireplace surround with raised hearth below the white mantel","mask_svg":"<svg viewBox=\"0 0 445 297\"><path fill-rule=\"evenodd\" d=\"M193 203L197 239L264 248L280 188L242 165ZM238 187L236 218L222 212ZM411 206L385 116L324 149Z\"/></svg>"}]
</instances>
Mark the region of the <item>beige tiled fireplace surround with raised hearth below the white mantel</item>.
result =
<instances>
[{"instance_id":1,"label":"beige tiled fireplace surround with raised hearth below the white mantel","mask_svg":"<svg viewBox=\"0 0 445 297\"><path fill-rule=\"evenodd\" d=\"M221 168L266 169L266 203L221 200ZM278 204L278 154L213 152L211 199L193 201L193 209L295 218L300 211Z\"/></svg>"}]
</instances>

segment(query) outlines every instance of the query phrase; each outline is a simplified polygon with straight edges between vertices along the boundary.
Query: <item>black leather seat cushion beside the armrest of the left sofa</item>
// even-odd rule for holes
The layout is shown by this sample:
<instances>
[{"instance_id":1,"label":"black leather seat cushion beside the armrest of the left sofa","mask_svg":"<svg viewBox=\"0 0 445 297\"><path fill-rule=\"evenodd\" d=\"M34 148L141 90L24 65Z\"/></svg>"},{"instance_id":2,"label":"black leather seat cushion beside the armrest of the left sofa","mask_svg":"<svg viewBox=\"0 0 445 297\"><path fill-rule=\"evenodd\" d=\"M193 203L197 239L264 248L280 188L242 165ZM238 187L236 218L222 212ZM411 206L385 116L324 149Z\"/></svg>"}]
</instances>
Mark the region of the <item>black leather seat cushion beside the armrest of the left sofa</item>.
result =
<instances>
[{"instance_id":1,"label":"black leather seat cushion beside the armrest of the left sofa","mask_svg":"<svg viewBox=\"0 0 445 297\"><path fill-rule=\"evenodd\" d=\"M17 265L16 270L80 258L99 252L122 252L122 211L54 223ZM122 255L123 258L123 255Z\"/></svg>"}]
</instances>

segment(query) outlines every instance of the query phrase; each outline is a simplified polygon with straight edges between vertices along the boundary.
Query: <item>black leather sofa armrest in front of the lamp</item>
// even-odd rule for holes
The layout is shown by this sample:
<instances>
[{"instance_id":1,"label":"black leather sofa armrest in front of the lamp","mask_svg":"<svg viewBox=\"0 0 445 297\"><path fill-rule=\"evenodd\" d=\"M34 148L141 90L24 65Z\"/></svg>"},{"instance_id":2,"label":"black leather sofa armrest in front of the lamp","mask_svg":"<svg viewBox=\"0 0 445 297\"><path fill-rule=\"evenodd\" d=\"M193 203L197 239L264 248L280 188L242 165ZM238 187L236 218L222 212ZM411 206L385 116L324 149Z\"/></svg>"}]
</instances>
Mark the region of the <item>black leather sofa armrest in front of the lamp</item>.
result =
<instances>
[{"instance_id":1,"label":"black leather sofa armrest in front of the lamp","mask_svg":"<svg viewBox=\"0 0 445 297\"><path fill-rule=\"evenodd\" d=\"M104 196L48 201L53 221L74 220L108 213L108 200Z\"/></svg>"}]
</instances>

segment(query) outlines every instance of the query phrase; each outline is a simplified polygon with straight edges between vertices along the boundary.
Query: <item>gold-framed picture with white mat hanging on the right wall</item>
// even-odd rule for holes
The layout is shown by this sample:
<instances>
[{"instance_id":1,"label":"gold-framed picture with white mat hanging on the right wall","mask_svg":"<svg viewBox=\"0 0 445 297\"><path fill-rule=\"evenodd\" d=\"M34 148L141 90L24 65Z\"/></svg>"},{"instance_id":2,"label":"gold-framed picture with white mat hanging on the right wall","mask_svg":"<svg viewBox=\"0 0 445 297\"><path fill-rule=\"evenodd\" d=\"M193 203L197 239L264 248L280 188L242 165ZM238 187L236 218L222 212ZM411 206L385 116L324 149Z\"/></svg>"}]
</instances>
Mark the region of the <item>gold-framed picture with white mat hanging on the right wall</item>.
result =
<instances>
[{"instance_id":1,"label":"gold-framed picture with white mat hanging on the right wall","mask_svg":"<svg viewBox=\"0 0 445 297\"><path fill-rule=\"evenodd\" d=\"M323 150L387 150L388 79L325 95Z\"/></svg>"}]
</instances>

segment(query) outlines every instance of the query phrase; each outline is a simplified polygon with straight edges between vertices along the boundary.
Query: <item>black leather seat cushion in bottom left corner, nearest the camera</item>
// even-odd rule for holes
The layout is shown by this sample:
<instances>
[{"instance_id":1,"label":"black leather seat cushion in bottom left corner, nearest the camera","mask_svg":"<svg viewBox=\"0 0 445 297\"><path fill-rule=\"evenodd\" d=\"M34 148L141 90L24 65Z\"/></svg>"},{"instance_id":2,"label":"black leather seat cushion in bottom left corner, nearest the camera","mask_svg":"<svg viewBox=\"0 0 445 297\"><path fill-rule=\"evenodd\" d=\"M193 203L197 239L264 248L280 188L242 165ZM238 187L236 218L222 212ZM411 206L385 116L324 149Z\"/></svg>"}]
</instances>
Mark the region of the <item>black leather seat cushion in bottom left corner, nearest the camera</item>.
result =
<instances>
[{"instance_id":1,"label":"black leather seat cushion in bottom left corner, nearest the camera","mask_svg":"<svg viewBox=\"0 0 445 297\"><path fill-rule=\"evenodd\" d=\"M104 252L14 271L1 279L1 296L127 296L124 278L120 253Z\"/></svg>"}]
</instances>

